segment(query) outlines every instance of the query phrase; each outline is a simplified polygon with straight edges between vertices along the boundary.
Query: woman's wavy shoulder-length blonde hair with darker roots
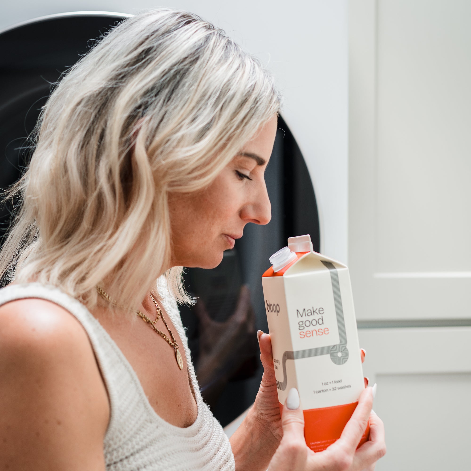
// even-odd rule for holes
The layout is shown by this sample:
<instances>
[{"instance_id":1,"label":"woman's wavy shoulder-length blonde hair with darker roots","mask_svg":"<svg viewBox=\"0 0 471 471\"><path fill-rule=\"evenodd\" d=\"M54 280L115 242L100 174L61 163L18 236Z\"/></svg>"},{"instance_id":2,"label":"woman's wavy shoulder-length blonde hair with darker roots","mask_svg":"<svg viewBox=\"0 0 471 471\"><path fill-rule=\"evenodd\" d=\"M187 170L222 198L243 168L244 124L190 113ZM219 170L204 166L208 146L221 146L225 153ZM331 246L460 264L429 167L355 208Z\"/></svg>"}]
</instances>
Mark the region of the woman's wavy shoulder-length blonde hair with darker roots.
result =
<instances>
[{"instance_id":1,"label":"woman's wavy shoulder-length blonde hair with darker roots","mask_svg":"<svg viewBox=\"0 0 471 471\"><path fill-rule=\"evenodd\" d=\"M108 32L58 83L9 197L0 273L89 307L136 306L171 260L170 193L207 187L280 106L273 78L198 16L158 9ZM182 267L165 272L189 298Z\"/></svg>"}]
</instances>

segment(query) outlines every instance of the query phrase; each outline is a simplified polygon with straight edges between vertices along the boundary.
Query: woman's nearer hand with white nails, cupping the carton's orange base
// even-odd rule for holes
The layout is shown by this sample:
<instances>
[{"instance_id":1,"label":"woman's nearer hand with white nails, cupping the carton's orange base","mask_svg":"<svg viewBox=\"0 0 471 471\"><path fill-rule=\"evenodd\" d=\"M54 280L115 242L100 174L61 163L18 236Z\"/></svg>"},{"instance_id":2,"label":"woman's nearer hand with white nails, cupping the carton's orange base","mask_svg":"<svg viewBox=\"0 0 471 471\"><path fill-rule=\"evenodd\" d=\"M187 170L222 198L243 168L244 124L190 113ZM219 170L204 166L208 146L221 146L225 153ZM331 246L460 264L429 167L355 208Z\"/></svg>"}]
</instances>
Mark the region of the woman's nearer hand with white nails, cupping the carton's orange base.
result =
<instances>
[{"instance_id":1,"label":"woman's nearer hand with white nails, cupping the carton's orange base","mask_svg":"<svg viewBox=\"0 0 471 471\"><path fill-rule=\"evenodd\" d=\"M373 471L385 455L384 426L372 411L373 391L366 388L340 439L326 450L314 453L304 440L304 416L299 394L290 390L283 409L283 439L270 461L268 471ZM357 449L370 421L370 438Z\"/></svg>"}]
</instances>

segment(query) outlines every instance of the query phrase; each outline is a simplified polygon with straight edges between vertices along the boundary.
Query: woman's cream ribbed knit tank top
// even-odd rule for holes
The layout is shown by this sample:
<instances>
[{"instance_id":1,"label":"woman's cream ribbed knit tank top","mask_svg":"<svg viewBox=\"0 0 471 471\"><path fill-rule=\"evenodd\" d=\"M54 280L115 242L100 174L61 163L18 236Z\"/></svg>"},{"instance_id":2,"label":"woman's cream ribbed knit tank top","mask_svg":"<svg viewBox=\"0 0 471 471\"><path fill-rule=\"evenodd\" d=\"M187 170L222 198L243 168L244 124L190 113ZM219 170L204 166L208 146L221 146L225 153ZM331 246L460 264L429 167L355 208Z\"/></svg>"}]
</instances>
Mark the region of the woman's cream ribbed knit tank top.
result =
<instances>
[{"instance_id":1,"label":"woman's cream ribbed knit tank top","mask_svg":"<svg viewBox=\"0 0 471 471\"><path fill-rule=\"evenodd\" d=\"M67 309L87 332L110 398L110 421L103 442L106 469L113 471L235 470L224 431L204 404L177 303L159 279L162 305L183 342L188 375L195 391L195 423L180 428L159 417L138 377L116 343L89 310L55 287L12 284L0 290L0 306L12 300L40 298Z\"/></svg>"}]
</instances>

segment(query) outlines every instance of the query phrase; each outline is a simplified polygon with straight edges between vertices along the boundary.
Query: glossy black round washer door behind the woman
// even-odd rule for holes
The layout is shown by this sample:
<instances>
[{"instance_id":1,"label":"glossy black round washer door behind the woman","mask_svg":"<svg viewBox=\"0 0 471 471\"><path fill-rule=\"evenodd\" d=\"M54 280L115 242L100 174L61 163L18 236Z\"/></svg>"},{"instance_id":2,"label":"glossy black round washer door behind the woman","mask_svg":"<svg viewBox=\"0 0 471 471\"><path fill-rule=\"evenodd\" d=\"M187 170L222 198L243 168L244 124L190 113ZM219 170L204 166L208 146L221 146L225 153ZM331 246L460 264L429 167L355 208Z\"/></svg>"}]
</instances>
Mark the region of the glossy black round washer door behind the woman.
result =
<instances>
[{"instance_id":1,"label":"glossy black round washer door behind the woman","mask_svg":"<svg viewBox=\"0 0 471 471\"><path fill-rule=\"evenodd\" d=\"M34 150L41 106L54 84L101 34L122 21L115 13L68 13L32 20L0 33L0 188L24 171ZM280 116L265 179L272 204L266 226L248 224L214 269L187 269L193 307L181 306L188 343L211 410L224 426L249 407L263 373L257 342L268 332L261 275L288 237L310 234L319 250L319 218L309 171ZM45 189L44 191L47 191ZM12 204L0 207L0 236L8 234Z\"/></svg>"}]
</instances>

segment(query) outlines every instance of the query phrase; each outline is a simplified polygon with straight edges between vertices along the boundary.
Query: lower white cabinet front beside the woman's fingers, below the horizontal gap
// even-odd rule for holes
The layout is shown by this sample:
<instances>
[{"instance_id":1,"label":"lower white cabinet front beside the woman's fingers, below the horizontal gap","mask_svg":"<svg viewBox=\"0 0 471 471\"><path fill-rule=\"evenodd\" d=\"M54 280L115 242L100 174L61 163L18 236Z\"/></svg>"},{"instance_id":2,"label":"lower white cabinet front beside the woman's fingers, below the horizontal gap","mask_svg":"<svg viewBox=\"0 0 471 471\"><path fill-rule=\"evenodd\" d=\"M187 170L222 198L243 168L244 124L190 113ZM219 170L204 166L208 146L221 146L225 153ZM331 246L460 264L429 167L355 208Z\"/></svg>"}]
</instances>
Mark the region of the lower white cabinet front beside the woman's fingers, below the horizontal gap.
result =
<instances>
[{"instance_id":1,"label":"lower white cabinet front beside the woman's fingers, below the horizontal gap","mask_svg":"<svg viewBox=\"0 0 471 471\"><path fill-rule=\"evenodd\" d=\"M388 452L376 471L471 469L471 327L359 329Z\"/></svg>"}]
</instances>

